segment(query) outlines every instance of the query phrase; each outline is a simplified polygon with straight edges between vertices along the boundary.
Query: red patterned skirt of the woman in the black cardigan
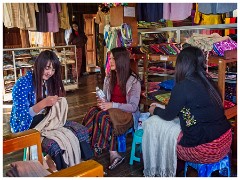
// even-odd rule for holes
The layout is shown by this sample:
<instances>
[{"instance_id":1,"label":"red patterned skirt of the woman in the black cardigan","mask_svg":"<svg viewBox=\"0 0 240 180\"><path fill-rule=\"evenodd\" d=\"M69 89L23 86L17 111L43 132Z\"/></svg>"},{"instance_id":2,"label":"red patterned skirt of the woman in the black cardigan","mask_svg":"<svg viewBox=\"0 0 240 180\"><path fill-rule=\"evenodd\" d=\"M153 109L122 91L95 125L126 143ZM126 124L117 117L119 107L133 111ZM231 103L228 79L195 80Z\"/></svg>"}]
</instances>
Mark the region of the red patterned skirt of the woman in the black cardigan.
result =
<instances>
[{"instance_id":1,"label":"red patterned skirt of the woman in the black cardigan","mask_svg":"<svg viewBox=\"0 0 240 180\"><path fill-rule=\"evenodd\" d=\"M181 140L183 134L180 132L178 136L178 143ZM195 163L214 163L224 158L230 151L232 143L232 131L229 129L226 133L220 136L218 139L213 140L210 143L198 145L196 147L183 147L177 145L177 156L184 161L190 161Z\"/></svg>"}]
</instances>

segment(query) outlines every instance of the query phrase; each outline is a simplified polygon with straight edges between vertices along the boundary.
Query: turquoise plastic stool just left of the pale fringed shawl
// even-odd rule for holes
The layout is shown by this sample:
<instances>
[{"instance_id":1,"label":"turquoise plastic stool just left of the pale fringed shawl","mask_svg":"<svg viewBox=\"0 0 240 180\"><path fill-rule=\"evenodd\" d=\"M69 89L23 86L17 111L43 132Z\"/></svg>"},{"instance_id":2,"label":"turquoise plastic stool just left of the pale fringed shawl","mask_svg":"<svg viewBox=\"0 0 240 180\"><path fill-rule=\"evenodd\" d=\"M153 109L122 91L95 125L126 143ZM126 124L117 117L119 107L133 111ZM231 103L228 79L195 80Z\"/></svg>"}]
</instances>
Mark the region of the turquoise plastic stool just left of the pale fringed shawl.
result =
<instances>
[{"instance_id":1,"label":"turquoise plastic stool just left of the pale fringed shawl","mask_svg":"<svg viewBox=\"0 0 240 180\"><path fill-rule=\"evenodd\" d=\"M143 135L143 130L139 129L135 131L134 136L133 136L133 142L132 142L132 150L131 150L131 157L130 157L130 165L133 165L133 161L140 162L140 158L135 156L136 152L136 145L140 145L140 152L142 151L142 135Z\"/></svg>"}]
</instances>

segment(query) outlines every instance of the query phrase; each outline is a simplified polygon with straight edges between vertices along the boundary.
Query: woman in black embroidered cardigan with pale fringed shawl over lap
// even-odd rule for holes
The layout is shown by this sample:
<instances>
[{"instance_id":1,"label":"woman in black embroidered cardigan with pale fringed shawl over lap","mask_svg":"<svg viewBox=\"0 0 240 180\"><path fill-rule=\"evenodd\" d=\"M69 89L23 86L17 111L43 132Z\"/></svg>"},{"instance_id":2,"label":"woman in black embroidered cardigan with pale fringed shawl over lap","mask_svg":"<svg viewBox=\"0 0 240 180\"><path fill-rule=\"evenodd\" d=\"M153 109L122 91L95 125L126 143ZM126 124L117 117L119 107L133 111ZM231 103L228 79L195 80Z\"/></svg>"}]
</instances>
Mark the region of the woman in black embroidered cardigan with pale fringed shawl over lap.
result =
<instances>
[{"instance_id":1,"label":"woman in black embroidered cardigan with pale fringed shawl over lap","mask_svg":"<svg viewBox=\"0 0 240 180\"><path fill-rule=\"evenodd\" d=\"M184 48L177 56L176 85L169 103L166 107L156 103L150 106L149 112L153 116L143 122L145 176L174 176L176 172L173 163L169 164L168 169L161 164L169 162L169 159L166 160L169 157L177 156L175 158L197 163L214 163L230 151L231 125L224 115L219 90L206 72L206 63L201 49ZM169 130L163 135L164 129L161 127L166 129L169 124ZM170 139L173 151L167 147L171 143ZM164 149L167 149L166 154ZM152 154L155 155L155 162L151 159ZM176 160L173 162L176 168ZM167 165L168 163L164 164Z\"/></svg>"}]
</instances>

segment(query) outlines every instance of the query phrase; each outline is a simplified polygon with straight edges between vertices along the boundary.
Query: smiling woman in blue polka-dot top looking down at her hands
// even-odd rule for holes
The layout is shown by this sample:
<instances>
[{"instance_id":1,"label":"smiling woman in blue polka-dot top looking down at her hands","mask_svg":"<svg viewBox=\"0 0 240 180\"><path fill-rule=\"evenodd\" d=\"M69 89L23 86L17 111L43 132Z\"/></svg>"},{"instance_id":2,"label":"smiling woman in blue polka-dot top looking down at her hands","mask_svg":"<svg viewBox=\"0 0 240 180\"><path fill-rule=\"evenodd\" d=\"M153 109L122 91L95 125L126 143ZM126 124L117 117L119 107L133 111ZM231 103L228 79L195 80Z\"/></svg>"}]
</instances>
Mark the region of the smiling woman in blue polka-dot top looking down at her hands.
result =
<instances>
[{"instance_id":1,"label":"smiling woman in blue polka-dot top looking down at her hands","mask_svg":"<svg viewBox=\"0 0 240 180\"><path fill-rule=\"evenodd\" d=\"M33 71L28 71L25 76L17 80L12 96L11 131L22 132L40 124L52 106L57 103L58 98L65 96L61 79L61 64L57 55L53 51L42 51L35 60ZM66 121L64 127L73 132L79 139L80 145L83 141L88 142L87 130L81 124ZM87 146L87 143L85 144ZM53 170L67 167L62 155L63 150L56 141L44 137L42 150L48 154L47 162L51 162L51 159L55 162L56 167L51 167Z\"/></svg>"}]
</instances>

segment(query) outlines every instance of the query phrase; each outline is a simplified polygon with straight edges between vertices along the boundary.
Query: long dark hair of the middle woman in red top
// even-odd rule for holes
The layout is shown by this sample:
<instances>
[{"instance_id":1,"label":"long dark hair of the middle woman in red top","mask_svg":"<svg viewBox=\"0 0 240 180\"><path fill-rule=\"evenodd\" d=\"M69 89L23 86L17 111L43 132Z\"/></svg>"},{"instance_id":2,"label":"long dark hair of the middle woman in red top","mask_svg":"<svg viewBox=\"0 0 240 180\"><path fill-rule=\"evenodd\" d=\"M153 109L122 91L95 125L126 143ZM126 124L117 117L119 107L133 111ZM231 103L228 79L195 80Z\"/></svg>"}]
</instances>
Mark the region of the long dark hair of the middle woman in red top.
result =
<instances>
[{"instance_id":1,"label":"long dark hair of the middle woman in red top","mask_svg":"<svg viewBox=\"0 0 240 180\"><path fill-rule=\"evenodd\" d=\"M136 78L137 75L130 68L130 54L125 47L117 47L111 50L115 59L116 71L110 72L110 93L112 94L115 84L118 83L122 94L126 95L126 84L128 78L133 74Z\"/></svg>"}]
</instances>

